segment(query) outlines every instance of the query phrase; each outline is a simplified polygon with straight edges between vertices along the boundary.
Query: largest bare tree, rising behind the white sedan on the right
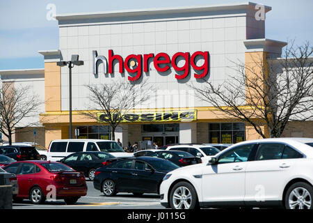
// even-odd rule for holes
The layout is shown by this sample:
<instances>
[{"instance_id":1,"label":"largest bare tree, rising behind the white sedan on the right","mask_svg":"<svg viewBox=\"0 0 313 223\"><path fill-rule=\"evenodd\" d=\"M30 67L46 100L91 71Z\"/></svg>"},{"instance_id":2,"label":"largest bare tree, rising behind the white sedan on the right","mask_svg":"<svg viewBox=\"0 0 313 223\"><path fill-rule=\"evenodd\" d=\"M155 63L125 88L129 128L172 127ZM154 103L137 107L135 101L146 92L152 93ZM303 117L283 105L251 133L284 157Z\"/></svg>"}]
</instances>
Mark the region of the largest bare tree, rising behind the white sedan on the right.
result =
<instances>
[{"instance_id":1,"label":"largest bare tree, rising behind the white sedan on the right","mask_svg":"<svg viewBox=\"0 0 313 223\"><path fill-rule=\"evenodd\" d=\"M202 89L191 87L200 100L250 123L263 138L280 137L288 121L313 118L312 53L310 43L292 42L279 59L255 56L249 64L234 62L236 75L223 84L207 81Z\"/></svg>"}]
</instances>

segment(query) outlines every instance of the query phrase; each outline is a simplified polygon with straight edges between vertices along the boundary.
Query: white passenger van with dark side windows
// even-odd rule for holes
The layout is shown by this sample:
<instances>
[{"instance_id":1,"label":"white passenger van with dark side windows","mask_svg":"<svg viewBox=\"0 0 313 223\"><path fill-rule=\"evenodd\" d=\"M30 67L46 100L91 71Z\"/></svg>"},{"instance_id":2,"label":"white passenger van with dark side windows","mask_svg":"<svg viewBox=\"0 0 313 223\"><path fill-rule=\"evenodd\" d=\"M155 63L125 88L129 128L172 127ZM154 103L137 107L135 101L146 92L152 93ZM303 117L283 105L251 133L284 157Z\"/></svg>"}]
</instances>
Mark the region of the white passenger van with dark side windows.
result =
<instances>
[{"instance_id":1,"label":"white passenger van with dark side windows","mask_svg":"<svg viewBox=\"0 0 313 223\"><path fill-rule=\"evenodd\" d=\"M59 139L49 144L47 160L58 161L77 152L99 151L110 153L115 157L133 157L132 153L126 153L116 142L102 139Z\"/></svg>"}]
</instances>

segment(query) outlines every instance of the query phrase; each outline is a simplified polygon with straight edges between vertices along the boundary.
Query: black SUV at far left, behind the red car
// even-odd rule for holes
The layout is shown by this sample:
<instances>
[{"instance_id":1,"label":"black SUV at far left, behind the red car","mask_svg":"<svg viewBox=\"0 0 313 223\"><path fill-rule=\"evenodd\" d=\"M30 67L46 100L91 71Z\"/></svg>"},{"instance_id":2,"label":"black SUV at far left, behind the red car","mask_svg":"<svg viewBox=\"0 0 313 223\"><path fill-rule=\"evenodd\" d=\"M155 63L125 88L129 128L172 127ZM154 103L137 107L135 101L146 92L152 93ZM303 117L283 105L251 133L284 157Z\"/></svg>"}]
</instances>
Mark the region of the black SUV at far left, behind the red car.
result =
<instances>
[{"instance_id":1,"label":"black SUV at far left, behind the red car","mask_svg":"<svg viewBox=\"0 0 313 223\"><path fill-rule=\"evenodd\" d=\"M0 155L6 155L17 161L40 160L35 146L0 146Z\"/></svg>"}]
</instances>

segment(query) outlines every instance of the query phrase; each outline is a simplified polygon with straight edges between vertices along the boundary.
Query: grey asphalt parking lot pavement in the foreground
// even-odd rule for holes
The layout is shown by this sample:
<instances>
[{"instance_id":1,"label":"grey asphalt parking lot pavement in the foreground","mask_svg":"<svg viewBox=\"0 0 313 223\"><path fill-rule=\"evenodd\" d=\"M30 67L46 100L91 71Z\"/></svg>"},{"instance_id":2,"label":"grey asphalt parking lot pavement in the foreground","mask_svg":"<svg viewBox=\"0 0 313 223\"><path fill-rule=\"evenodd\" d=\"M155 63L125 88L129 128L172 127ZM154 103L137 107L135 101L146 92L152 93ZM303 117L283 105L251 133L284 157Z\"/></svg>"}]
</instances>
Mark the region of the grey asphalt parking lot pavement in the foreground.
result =
<instances>
[{"instance_id":1,"label":"grey asphalt parking lot pavement in the foreground","mask_svg":"<svg viewBox=\"0 0 313 223\"><path fill-rule=\"evenodd\" d=\"M13 209L164 209L157 194L143 194L136 197L131 193L119 193L115 197L104 197L102 192L95 190L93 182L88 180L88 193L81 197L75 205L66 205L63 200L45 201L33 205L31 201L13 203Z\"/></svg>"}]
</instances>

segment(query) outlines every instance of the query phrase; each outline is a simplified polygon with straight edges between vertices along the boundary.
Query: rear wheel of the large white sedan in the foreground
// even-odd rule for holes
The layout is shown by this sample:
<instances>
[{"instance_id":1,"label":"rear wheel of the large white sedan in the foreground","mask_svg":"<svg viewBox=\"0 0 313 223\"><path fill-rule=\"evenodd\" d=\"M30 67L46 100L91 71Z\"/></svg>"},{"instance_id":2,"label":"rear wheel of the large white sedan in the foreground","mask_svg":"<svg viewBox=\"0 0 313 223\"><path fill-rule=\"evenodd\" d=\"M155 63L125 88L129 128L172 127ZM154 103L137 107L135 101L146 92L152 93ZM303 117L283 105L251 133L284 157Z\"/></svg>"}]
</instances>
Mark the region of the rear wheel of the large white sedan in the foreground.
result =
<instances>
[{"instance_id":1,"label":"rear wheel of the large white sedan in the foreground","mask_svg":"<svg viewBox=\"0 0 313 223\"><path fill-rule=\"evenodd\" d=\"M291 185L284 197L287 209L313 209L313 187L307 183L298 182Z\"/></svg>"}]
</instances>

